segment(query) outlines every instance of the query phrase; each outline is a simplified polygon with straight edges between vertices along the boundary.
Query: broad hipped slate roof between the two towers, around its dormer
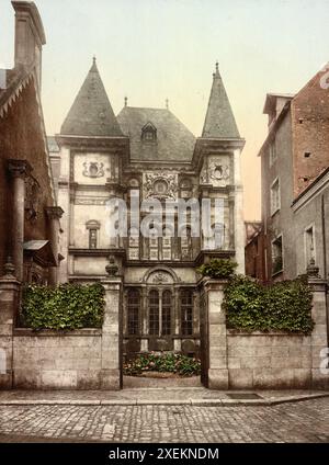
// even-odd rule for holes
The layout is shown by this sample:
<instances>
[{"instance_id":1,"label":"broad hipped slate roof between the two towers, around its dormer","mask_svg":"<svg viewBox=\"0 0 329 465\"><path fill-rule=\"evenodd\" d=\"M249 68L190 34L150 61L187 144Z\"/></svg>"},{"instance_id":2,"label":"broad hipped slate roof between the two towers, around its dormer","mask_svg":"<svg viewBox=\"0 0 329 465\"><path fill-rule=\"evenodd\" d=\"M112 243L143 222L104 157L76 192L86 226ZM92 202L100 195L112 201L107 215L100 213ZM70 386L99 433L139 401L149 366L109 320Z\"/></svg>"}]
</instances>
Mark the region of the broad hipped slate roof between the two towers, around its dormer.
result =
<instances>
[{"instance_id":1,"label":"broad hipped slate roof between the two towers, around its dormer","mask_svg":"<svg viewBox=\"0 0 329 465\"><path fill-rule=\"evenodd\" d=\"M117 121L124 135L131 139L132 160L192 159L195 138L169 110L125 106ZM148 123L157 129L156 141L141 139L141 129Z\"/></svg>"}]
</instances>

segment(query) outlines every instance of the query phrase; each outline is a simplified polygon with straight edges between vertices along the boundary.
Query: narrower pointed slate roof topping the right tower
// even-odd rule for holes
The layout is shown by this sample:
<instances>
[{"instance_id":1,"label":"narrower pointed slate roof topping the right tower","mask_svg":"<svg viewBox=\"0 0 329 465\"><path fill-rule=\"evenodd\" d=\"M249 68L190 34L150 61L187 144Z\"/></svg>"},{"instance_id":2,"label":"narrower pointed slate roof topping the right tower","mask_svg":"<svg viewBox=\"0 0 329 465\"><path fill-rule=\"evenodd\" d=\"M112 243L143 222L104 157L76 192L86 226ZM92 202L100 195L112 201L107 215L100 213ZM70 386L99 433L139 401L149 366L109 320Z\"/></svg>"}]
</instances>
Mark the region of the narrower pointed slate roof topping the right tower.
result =
<instances>
[{"instance_id":1,"label":"narrower pointed slate roof topping the right tower","mask_svg":"<svg viewBox=\"0 0 329 465\"><path fill-rule=\"evenodd\" d=\"M239 129L216 64L213 87L208 102L202 137L239 138Z\"/></svg>"}]
</instances>

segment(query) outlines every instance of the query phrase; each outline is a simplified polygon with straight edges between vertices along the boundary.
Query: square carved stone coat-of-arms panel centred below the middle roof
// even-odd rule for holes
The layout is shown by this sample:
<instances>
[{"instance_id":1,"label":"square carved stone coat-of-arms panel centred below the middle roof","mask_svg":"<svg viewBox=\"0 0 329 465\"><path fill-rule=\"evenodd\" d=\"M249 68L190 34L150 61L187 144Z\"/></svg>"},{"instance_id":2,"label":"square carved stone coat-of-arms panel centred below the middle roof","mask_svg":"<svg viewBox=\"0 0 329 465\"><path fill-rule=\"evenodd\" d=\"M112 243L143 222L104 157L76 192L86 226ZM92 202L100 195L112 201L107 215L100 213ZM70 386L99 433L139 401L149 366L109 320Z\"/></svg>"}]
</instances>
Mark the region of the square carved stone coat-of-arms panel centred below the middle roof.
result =
<instances>
[{"instance_id":1,"label":"square carved stone coat-of-arms panel centred below the middle roof","mask_svg":"<svg viewBox=\"0 0 329 465\"><path fill-rule=\"evenodd\" d=\"M158 200L175 200L178 177L166 172L145 173L144 197Z\"/></svg>"}]
</instances>

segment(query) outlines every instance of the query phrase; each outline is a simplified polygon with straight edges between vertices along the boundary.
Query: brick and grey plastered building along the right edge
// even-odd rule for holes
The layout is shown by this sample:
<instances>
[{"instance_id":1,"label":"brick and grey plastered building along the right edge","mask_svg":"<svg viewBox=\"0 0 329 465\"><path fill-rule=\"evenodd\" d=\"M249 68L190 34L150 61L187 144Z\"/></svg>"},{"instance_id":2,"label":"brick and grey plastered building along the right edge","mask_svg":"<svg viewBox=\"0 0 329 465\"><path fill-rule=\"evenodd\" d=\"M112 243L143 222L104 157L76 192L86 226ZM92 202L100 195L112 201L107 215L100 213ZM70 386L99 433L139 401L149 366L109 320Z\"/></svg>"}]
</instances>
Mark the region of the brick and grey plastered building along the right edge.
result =
<instances>
[{"instance_id":1,"label":"brick and grey plastered building along the right edge","mask_svg":"<svg viewBox=\"0 0 329 465\"><path fill-rule=\"evenodd\" d=\"M296 95L268 94L269 135L259 152L264 282L294 279L313 259L328 276L329 90L319 71ZM328 226L327 226L328 229ZM252 259L246 250L247 262Z\"/></svg>"}]
</instances>

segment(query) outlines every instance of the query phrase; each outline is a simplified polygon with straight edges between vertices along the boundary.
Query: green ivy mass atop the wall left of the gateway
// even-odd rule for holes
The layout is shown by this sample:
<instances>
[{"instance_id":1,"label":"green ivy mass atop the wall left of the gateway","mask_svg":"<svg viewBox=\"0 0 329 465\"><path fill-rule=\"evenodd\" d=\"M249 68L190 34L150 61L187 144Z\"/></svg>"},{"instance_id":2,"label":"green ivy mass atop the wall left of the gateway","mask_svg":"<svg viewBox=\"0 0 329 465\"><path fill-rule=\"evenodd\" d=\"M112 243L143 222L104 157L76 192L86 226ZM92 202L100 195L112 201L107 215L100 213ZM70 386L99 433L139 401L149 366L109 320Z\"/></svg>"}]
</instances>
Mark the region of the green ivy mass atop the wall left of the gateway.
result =
<instances>
[{"instance_id":1,"label":"green ivy mass atop the wall left of the gateway","mask_svg":"<svg viewBox=\"0 0 329 465\"><path fill-rule=\"evenodd\" d=\"M101 328L104 287L63 284L56 288L27 285L23 290L21 325L33 329Z\"/></svg>"}]
</instances>

